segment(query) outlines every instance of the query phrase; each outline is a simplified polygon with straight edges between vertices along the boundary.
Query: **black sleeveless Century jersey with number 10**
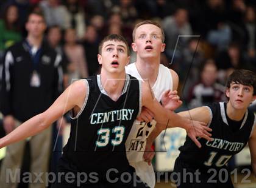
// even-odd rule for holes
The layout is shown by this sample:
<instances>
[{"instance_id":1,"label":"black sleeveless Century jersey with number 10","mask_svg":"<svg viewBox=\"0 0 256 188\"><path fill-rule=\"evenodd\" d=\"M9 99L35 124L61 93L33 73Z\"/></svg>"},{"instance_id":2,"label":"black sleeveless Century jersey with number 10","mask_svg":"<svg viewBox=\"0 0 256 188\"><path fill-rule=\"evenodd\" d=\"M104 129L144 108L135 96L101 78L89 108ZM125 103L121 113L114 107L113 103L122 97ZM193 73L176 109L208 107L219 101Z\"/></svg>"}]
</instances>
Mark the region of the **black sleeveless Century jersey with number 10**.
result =
<instances>
[{"instance_id":1,"label":"black sleeveless Century jersey with number 10","mask_svg":"<svg viewBox=\"0 0 256 188\"><path fill-rule=\"evenodd\" d=\"M202 144L199 149L187 136L184 145L179 148L179 158L191 167L200 167L201 170L225 167L229 159L246 146L255 124L255 115L248 110L240 122L229 119L224 102L213 103L209 110L209 127L214 140L199 139Z\"/></svg>"}]
</instances>

